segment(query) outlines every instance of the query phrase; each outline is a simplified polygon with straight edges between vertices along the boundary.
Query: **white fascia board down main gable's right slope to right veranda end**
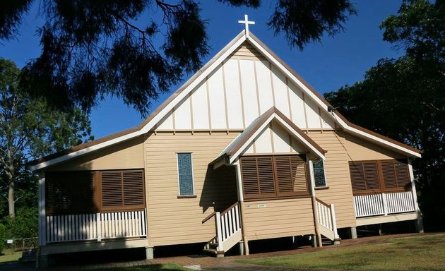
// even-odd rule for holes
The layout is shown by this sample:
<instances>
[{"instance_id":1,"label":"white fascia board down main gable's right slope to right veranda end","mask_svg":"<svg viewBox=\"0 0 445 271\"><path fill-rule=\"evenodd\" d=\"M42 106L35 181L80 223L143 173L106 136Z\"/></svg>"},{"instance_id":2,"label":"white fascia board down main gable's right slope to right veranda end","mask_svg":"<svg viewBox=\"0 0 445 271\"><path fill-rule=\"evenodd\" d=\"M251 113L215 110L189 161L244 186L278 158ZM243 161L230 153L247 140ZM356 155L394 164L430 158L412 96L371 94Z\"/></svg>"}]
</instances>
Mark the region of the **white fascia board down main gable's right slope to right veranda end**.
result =
<instances>
[{"instance_id":1,"label":"white fascia board down main gable's right slope to right veranda end","mask_svg":"<svg viewBox=\"0 0 445 271\"><path fill-rule=\"evenodd\" d=\"M420 155L420 153L417 152L413 152L412 150L408 150L405 147L401 147L399 145L396 145L394 143L391 143L387 140L381 139L376 137L375 135L371 135L369 133L366 133L364 131L360 131L357 128L353 128L351 126L349 126L348 124L345 123L345 121L343 121L340 118L336 118L336 116L333 116L333 114L330 114L328 112L328 107L326 104L324 104L323 101L320 100L319 97L317 97L314 92L312 92L311 90L309 90L309 88L307 88L306 85L304 85L304 83L302 83L302 81L300 81L298 78L296 78L290 71L287 70L287 68L285 68L285 66L283 66L283 64L280 64L280 61L278 61L277 59L275 59L275 57L273 57L271 54L269 54L269 52L267 52L266 49L264 49L259 43L257 43L255 40L253 39L249 39L249 42L251 42L251 44L254 45L254 47L256 47L256 49L258 49L264 56L266 56L266 58L271 61L275 66L277 66L278 68L280 68L280 71L282 71L283 73L285 73L285 75L287 76L287 78L290 78L290 80L292 80L292 83L295 83L295 85L299 86L299 88L302 88L302 90L304 90L304 92L309 95L309 97L312 98L312 100L314 100L316 102L316 104L319 105L320 108L324 109L324 112L327 113L327 115L333 120L338 122L338 124L340 124L340 126L342 128L345 128L345 130L348 130L352 133L357 133L359 135L362 135L366 138L369 138L371 140L377 141L379 143L383 143L384 145L387 145L388 147L393 147L396 150L399 150L401 152L405 152L408 155L413 155L415 157L422 157L422 155Z\"/></svg>"}]
</instances>

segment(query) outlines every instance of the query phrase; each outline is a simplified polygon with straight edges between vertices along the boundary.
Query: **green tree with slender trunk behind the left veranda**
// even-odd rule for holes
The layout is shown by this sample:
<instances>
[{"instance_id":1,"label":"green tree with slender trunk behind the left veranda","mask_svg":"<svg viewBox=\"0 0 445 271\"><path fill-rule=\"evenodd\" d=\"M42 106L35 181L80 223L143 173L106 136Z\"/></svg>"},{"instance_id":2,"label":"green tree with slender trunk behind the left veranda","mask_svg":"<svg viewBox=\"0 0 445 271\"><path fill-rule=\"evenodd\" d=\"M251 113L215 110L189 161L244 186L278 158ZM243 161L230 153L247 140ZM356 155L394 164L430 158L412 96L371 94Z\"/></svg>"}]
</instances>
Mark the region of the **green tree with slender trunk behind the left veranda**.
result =
<instances>
[{"instance_id":1,"label":"green tree with slender trunk behind the left veranda","mask_svg":"<svg viewBox=\"0 0 445 271\"><path fill-rule=\"evenodd\" d=\"M0 181L11 217L16 188L22 188L23 198L34 191L35 181L26 167L30 159L92 139L88 116L79 109L52 111L45 100L26 97L18 88L19 76L12 61L0 59Z\"/></svg>"}]
</instances>

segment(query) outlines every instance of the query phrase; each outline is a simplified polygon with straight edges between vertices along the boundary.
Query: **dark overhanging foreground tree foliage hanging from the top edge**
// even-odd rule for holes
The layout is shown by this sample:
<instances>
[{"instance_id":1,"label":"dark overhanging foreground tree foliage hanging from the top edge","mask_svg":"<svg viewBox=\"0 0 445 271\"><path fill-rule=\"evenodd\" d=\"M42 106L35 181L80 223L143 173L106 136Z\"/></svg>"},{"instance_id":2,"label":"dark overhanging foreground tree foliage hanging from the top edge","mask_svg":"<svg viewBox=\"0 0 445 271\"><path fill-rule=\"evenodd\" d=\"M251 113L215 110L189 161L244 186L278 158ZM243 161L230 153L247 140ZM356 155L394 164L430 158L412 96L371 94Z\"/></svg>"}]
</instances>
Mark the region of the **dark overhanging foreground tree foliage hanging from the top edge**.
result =
<instances>
[{"instance_id":1,"label":"dark overhanging foreground tree foliage hanging from the top edge","mask_svg":"<svg viewBox=\"0 0 445 271\"><path fill-rule=\"evenodd\" d=\"M217 0L257 8L259 0ZM32 0L6 1L0 8L0 39L15 37ZM42 54L25 67L21 85L58 107L88 112L114 95L148 114L151 101L183 73L196 71L208 54L206 20L195 0L45 1L40 28ZM159 13L156 13L160 11ZM303 49L324 32L343 30L355 14L350 0L277 0L268 22L275 34ZM160 40L165 42L158 47Z\"/></svg>"}]
</instances>

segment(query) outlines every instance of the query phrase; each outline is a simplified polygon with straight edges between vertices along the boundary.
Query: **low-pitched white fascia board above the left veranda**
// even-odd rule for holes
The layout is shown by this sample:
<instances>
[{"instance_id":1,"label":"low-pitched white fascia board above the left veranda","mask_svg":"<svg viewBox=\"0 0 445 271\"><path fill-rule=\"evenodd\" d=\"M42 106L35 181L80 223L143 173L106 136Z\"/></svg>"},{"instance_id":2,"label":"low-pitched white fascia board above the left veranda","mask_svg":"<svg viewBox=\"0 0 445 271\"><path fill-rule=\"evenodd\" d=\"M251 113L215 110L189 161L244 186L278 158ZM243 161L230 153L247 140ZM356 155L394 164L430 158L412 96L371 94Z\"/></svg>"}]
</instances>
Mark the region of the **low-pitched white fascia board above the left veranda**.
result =
<instances>
[{"instance_id":1,"label":"low-pitched white fascia board above the left veranda","mask_svg":"<svg viewBox=\"0 0 445 271\"><path fill-rule=\"evenodd\" d=\"M50 159L50 160L45 161L45 162L41 162L39 164L35 164L34 166L31 166L30 169L31 169L31 171L35 171L35 170L38 170L38 169L49 167L49 166L52 166L53 164L57 164L57 163L60 163L60 162L64 162L64 161L66 161L68 159L71 159L71 158L74 158L74 157L78 157L79 155L84 155L84 154L86 154L88 152L93 152L94 150L99 150L102 147L108 147L109 145L114 145L114 144L122 142L124 140L129 140L131 138L136 138L136 136L142 135L142 134L143 133L141 131L136 131L136 132L133 132L133 133L129 133L128 135L122 135L122 136L119 136L119 138L114 138L112 140L107 140L107 141L99 143L97 145L93 145L91 147L85 147L85 149L78 150L76 152L71 152L68 155L63 155L61 157L57 157L57 158Z\"/></svg>"}]
</instances>

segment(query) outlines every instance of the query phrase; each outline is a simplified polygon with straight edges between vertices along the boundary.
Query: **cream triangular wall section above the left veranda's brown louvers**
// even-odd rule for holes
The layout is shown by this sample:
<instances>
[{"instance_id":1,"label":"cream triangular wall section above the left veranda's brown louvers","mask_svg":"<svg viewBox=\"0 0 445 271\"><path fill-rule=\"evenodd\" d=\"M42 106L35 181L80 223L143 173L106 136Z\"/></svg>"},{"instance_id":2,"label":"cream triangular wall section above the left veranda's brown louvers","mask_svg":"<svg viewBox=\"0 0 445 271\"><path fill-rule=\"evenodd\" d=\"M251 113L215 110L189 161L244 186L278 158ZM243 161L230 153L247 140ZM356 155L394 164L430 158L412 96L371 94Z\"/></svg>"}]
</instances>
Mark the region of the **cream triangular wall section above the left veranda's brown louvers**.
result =
<instances>
[{"instance_id":1,"label":"cream triangular wall section above the left veranda's brown louvers","mask_svg":"<svg viewBox=\"0 0 445 271\"><path fill-rule=\"evenodd\" d=\"M143 152L143 137L141 136L76 157L49 167L46 171L143 169Z\"/></svg>"}]
</instances>

